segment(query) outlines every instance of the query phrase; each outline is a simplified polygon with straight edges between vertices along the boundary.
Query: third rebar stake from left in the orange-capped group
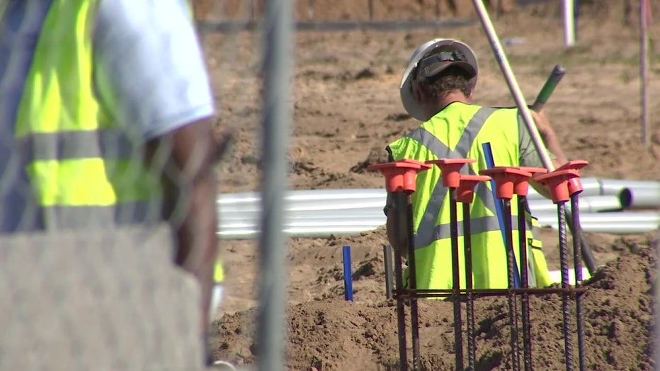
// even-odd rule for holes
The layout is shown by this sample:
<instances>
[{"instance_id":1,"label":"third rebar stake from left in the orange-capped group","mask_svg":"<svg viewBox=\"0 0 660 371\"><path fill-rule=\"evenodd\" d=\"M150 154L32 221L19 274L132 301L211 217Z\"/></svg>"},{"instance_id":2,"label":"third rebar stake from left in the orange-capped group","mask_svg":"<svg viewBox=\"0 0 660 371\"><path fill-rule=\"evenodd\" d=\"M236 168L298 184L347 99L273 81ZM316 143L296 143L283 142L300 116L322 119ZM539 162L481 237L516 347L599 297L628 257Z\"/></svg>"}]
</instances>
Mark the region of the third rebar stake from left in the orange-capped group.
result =
<instances>
[{"instance_id":1,"label":"third rebar stake from left in the orange-capped group","mask_svg":"<svg viewBox=\"0 0 660 371\"><path fill-rule=\"evenodd\" d=\"M460 313L460 266L458 259L458 210L456 188L449 188L449 222L452 246L452 300L454 304L454 347L456 351L456 370L463 370L463 334ZM465 222L463 223L465 224Z\"/></svg>"}]
</instances>

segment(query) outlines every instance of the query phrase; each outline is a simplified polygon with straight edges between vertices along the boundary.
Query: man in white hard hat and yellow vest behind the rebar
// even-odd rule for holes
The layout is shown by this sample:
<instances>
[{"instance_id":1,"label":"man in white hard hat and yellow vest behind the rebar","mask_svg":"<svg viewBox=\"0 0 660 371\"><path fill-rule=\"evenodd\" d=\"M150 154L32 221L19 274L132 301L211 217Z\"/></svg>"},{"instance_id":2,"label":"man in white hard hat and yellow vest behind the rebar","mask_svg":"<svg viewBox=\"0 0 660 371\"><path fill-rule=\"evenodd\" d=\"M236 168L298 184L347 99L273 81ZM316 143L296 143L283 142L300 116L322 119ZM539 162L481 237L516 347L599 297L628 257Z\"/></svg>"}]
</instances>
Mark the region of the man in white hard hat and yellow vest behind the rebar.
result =
<instances>
[{"instance_id":1,"label":"man in white hard hat and yellow vest behind the rebar","mask_svg":"<svg viewBox=\"0 0 660 371\"><path fill-rule=\"evenodd\" d=\"M403 74L400 94L406 111L423 123L405 137L389 144L387 151L390 160L476 159L476 163L465 165L462 172L478 174L480 170L487 169L482 144L490 142L496 166L543 167L517 108L488 108L472 104L478 75L474 52L460 41L435 39L418 47ZM551 158L557 166L564 164L566 158L545 114L533 112L532 115ZM455 268L452 266L448 232L450 200L440 176L438 166L419 173L416 192L411 196L416 285L419 289L449 289L453 285L452 271ZM471 204L473 282L475 288L503 288L508 283L506 250L496 217L495 200L487 183L477 186L475 200ZM533 186L548 196L542 186ZM389 195L385 207L387 234L394 249L407 256L406 241L395 239L395 203L394 196ZM517 215L516 210L513 210L513 215ZM460 215L458 218L462 219ZM535 221L529 216L528 220ZM517 252L516 230L513 231L513 241ZM550 285L552 282L540 241L528 234L528 242L532 251L528 262L530 286ZM462 246L462 236L459 246ZM464 265L461 252L462 287L465 287Z\"/></svg>"}]
</instances>

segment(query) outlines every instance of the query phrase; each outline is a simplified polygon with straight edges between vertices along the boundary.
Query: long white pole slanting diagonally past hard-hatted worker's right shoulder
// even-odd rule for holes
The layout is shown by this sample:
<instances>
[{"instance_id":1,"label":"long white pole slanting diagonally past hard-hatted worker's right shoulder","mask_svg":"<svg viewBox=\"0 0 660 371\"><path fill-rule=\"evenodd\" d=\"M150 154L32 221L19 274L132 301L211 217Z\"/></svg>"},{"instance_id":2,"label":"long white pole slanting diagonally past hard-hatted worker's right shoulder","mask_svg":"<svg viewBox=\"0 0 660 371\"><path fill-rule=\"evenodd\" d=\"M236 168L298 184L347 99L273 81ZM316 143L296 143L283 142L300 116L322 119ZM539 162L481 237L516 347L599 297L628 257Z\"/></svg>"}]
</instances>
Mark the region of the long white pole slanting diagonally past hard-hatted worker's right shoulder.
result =
<instances>
[{"instance_id":1,"label":"long white pole slanting diagonally past hard-hatted worker's right shoulder","mask_svg":"<svg viewBox=\"0 0 660 371\"><path fill-rule=\"evenodd\" d=\"M508 85L508 89L511 91L511 95L516 100L516 106L518 107L518 111L520 112L520 114L523 115L523 121L525 122L525 125L527 126L530 135L532 136L532 140L541 158L543 167L545 167L545 169L547 169L547 171L549 172L554 171L554 165L552 164L550 155L547 153L547 150L545 149L545 144L543 144L543 141L536 128L534 119L532 118L527 103L525 103L525 98L523 98L523 92L520 91L520 86L518 86L518 82L516 81L516 76L513 76L513 71L511 70L511 66L508 63L508 59L506 59L506 55L504 54L504 50L499 41L499 38L495 33L495 28L493 27L493 23L491 22L491 19L488 16L486 7L484 6L482 0L472 0L472 3L474 4L474 8L477 11L477 14L479 15L479 20L482 23L484 32L486 33L488 40L491 44L491 48L494 52L497 64L499 65L502 74L506 79L506 84ZM564 219L566 218L564 217ZM589 273L593 274L597 268L596 260L593 258L593 253L591 252L591 249L588 247L588 244L586 244L584 235L581 235L580 238L582 239L582 249L583 249L582 253L585 258L585 263L587 265L587 268L589 269Z\"/></svg>"}]
</instances>

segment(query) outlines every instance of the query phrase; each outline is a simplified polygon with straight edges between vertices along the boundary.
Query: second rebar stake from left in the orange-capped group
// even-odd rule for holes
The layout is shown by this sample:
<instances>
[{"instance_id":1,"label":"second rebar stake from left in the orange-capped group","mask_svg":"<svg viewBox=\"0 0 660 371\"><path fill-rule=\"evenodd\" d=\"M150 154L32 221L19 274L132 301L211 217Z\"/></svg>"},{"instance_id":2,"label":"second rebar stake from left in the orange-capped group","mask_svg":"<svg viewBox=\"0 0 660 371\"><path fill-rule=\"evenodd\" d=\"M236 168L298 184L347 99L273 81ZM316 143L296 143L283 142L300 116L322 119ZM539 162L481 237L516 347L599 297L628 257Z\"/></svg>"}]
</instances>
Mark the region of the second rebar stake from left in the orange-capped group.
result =
<instances>
[{"instance_id":1,"label":"second rebar stake from left in the orange-capped group","mask_svg":"<svg viewBox=\"0 0 660 371\"><path fill-rule=\"evenodd\" d=\"M410 193L399 193L399 202L404 203L406 223L406 241L408 241L408 288L410 290L417 290L417 269L415 261L415 234L413 232L413 219L412 219L412 200ZM402 206L399 203L399 206ZM410 322L412 334L412 350L413 350L413 370L417 371L420 368L419 360L419 309L417 308L417 298L411 297L410 303Z\"/></svg>"}]
</instances>

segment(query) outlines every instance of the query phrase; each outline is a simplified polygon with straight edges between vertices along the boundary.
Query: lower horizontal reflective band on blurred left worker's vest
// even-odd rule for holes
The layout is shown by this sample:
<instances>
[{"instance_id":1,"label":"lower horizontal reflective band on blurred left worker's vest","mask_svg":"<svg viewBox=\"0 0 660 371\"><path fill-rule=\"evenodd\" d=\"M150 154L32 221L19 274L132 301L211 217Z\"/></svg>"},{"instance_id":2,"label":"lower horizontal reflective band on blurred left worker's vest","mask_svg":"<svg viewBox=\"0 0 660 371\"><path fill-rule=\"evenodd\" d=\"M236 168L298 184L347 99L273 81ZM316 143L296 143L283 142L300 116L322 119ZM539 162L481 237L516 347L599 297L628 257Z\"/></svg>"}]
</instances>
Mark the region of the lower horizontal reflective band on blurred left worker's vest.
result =
<instances>
[{"instance_id":1,"label":"lower horizontal reflective band on blurred left worker's vest","mask_svg":"<svg viewBox=\"0 0 660 371\"><path fill-rule=\"evenodd\" d=\"M77 229L108 227L116 224L156 222L161 215L161 202L140 201L110 206L47 206L37 212L44 229Z\"/></svg>"}]
</instances>

